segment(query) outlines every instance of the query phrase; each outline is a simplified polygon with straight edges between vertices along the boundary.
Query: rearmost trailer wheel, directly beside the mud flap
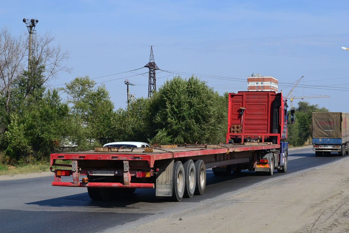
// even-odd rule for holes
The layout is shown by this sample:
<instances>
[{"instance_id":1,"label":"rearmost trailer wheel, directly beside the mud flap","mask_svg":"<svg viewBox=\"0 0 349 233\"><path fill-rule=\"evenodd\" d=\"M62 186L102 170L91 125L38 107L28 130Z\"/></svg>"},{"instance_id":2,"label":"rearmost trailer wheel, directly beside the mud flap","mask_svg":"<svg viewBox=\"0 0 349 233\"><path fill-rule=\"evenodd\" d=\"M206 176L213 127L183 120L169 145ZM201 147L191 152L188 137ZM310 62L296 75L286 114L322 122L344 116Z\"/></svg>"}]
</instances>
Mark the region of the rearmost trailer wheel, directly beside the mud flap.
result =
<instances>
[{"instance_id":1,"label":"rearmost trailer wheel, directly beside the mud flap","mask_svg":"<svg viewBox=\"0 0 349 233\"><path fill-rule=\"evenodd\" d=\"M177 161L173 165L173 184L172 199L173 201L181 201L185 189L185 172L181 161Z\"/></svg>"}]
</instances>

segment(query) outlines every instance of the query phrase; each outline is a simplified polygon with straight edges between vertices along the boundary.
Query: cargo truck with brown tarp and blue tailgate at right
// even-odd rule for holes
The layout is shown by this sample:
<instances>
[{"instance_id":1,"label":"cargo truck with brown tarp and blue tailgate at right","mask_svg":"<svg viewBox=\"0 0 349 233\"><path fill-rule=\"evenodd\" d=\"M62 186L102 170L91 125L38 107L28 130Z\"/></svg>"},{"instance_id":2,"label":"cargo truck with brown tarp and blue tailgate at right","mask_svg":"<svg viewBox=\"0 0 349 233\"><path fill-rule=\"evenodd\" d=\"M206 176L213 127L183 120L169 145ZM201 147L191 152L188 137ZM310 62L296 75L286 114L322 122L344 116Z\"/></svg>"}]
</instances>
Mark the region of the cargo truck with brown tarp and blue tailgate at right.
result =
<instances>
[{"instance_id":1,"label":"cargo truck with brown tarp and blue tailgate at right","mask_svg":"<svg viewBox=\"0 0 349 233\"><path fill-rule=\"evenodd\" d=\"M331 152L344 156L349 152L349 113L313 112L312 144L316 156Z\"/></svg>"}]
</instances>

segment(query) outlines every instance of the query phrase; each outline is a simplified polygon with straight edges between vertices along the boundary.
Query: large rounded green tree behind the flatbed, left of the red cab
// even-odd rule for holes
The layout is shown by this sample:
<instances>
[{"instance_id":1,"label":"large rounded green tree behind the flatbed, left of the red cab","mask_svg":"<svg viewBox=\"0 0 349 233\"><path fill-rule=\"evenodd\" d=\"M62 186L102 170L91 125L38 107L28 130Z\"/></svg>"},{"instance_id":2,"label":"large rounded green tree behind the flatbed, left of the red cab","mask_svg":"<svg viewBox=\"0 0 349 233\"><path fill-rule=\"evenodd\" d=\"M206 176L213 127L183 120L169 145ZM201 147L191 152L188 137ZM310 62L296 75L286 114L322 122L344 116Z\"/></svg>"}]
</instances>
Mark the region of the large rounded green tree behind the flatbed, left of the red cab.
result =
<instances>
[{"instance_id":1,"label":"large rounded green tree behind the flatbed, left of the red cab","mask_svg":"<svg viewBox=\"0 0 349 233\"><path fill-rule=\"evenodd\" d=\"M218 143L224 141L227 125L224 97L197 77L167 80L150 99L152 137L166 130L172 143Z\"/></svg>"}]
</instances>

